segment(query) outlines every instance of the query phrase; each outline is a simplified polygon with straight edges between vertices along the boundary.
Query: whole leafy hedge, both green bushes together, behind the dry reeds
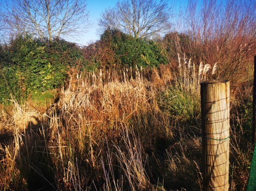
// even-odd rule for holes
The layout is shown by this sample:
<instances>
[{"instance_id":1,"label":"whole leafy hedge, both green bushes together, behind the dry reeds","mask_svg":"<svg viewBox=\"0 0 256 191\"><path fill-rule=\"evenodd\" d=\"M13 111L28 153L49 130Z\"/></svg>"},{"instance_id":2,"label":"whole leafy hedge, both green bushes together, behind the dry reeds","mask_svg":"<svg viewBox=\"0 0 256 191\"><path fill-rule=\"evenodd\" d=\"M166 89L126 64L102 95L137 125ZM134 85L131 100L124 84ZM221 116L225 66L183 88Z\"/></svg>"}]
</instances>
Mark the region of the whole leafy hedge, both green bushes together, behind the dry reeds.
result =
<instances>
[{"instance_id":1,"label":"whole leafy hedge, both green bushes together, behind the dry reeds","mask_svg":"<svg viewBox=\"0 0 256 191\"><path fill-rule=\"evenodd\" d=\"M106 30L86 47L63 39L17 36L0 45L0 103L11 95L18 101L63 85L67 76L98 68L154 67L167 63L154 41L135 39L118 30Z\"/></svg>"}]
</instances>

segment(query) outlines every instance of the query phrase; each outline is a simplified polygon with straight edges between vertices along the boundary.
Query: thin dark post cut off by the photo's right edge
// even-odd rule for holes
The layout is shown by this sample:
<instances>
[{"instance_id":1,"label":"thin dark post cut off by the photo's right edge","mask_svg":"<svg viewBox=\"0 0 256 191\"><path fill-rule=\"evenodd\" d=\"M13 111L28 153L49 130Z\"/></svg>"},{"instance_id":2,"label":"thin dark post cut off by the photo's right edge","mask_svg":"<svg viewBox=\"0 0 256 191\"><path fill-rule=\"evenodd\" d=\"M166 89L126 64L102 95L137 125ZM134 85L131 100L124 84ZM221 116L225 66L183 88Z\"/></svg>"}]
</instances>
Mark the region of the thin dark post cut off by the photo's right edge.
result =
<instances>
[{"instance_id":1,"label":"thin dark post cut off by the photo's right edge","mask_svg":"<svg viewBox=\"0 0 256 191\"><path fill-rule=\"evenodd\" d=\"M256 141L256 56L254 56L254 73L253 73L253 132L252 143Z\"/></svg>"}]
</instances>

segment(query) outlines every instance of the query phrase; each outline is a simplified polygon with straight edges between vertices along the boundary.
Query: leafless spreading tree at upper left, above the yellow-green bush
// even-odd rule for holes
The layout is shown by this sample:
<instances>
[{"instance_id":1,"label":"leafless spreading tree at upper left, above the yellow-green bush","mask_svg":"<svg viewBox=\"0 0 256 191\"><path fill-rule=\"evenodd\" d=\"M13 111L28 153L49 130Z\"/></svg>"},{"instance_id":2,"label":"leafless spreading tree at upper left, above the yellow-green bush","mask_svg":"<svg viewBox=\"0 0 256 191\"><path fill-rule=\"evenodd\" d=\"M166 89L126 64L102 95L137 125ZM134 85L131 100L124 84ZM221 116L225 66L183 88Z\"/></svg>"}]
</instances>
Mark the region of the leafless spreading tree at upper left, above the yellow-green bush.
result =
<instances>
[{"instance_id":1,"label":"leafless spreading tree at upper left, above the yellow-green bush","mask_svg":"<svg viewBox=\"0 0 256 191\"><path fill-rule=\"evenodd\" d=\"M0 10L5 30L49 40L83 31L88 15L85 0L12 0Z\"/></svg>"}]
</instances>

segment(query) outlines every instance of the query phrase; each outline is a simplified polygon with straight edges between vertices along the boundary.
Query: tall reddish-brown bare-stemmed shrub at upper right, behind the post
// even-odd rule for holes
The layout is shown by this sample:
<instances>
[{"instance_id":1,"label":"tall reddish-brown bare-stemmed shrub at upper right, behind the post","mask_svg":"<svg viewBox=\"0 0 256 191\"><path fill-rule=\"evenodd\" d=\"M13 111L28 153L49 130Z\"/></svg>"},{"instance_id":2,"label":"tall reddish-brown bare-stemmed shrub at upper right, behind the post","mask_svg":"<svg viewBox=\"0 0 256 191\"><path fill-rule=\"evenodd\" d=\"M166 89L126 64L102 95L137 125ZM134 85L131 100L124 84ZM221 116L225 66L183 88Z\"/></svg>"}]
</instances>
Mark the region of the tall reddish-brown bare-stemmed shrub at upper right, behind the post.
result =
<instances>
[{"instance_id":1,"label":"tall reddish-brown bare-stemmed shrub at upper right, behind the post","mask_svg":"<svg viewBox=\"0 0 256 191\"><path fill-rule=\"evenodd\" d=\"M176 30L189 37L173 37L180 55L212 66L218 62L220 78L247 78L256 53L255 0L189 0L180 16Z\"/></svg>"}]
</instances>

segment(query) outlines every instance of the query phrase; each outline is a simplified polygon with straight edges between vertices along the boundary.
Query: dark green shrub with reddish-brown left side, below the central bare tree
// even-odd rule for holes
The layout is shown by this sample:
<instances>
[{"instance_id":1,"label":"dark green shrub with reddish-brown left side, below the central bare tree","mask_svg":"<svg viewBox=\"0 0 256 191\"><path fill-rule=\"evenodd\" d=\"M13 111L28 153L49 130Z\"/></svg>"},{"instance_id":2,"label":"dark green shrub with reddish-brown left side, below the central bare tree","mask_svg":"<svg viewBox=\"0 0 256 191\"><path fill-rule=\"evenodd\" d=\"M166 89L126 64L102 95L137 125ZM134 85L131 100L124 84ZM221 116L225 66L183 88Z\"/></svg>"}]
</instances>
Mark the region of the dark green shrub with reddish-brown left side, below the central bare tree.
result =
<instances>
[{"instance_id":1,"label":"dark green shrub with reddish-brown left side, below the central bare tree","mask_svg":"<svg viewBox=\"0 0 256 191\"><path fill-rule=\"evenodd\" d=\"M146 67L167 63L156 42L106 30L99 41L84 47L84 56L100 68Z\"/></svg>"}]
</instances>

